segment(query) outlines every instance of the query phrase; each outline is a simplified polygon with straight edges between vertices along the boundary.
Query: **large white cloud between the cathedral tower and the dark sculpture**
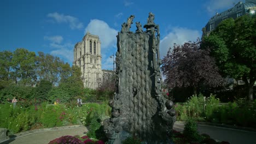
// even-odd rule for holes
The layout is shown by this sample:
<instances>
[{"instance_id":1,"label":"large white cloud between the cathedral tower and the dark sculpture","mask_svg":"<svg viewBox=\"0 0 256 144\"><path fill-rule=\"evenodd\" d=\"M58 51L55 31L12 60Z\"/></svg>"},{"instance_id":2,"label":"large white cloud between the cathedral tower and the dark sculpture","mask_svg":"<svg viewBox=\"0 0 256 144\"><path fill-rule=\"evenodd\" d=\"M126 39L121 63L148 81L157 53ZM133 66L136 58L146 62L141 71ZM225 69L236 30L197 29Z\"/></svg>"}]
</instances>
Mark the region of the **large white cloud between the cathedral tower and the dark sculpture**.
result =
<instances>
[{"instance_id":1,"label":"large white cloud between the cathedral tower and the dark sculpture","mask_svg":"<svg viewBox=\"0 0 256 144\"><path fill-rule=\"evenodd\" d=\"M89 32L94 35L98 35L101 40L102 50L106 50L112 47L117 47L118 31L108 26L108 24L101 20L91 20L88 26L85 28L85 33Z\"/></svg>"}]
</instances>

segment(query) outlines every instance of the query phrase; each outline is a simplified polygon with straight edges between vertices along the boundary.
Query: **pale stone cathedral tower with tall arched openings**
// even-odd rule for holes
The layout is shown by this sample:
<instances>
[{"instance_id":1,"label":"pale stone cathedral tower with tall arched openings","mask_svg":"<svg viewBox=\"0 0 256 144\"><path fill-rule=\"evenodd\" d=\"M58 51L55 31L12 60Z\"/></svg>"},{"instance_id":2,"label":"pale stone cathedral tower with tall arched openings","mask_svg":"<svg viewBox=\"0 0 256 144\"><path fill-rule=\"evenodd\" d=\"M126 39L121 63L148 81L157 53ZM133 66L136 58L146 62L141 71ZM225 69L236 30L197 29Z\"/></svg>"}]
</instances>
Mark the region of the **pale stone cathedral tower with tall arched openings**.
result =
<instances>
[{"instance_id":1,"label":"pale stone cathedral tower with tall arched openings","mask_svg":"<svg viewBox=\"0 0 256 144\"><path fill-rule=\"evenodd\" d=\"M102 83L101 41L87 32L74 46L73 64L81 68L84 87L96 89Z\"/></svg>"}]
</instances>

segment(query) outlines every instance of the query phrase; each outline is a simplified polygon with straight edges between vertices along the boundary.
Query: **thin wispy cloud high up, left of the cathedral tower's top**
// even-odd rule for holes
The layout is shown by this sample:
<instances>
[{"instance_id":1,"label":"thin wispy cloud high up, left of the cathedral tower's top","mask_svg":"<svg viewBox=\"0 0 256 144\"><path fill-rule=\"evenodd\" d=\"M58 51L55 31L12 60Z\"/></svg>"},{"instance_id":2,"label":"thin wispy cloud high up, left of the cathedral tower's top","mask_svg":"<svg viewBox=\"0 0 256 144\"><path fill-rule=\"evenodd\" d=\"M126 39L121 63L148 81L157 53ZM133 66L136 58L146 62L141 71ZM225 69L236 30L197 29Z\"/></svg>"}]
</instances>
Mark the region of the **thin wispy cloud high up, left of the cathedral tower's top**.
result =
<instances>
[{"instance_id":1,"label":"thin wispy cloud high up, left of the cathedral tower's top","mask_svg":"<svg viewBox=\"0 0 256 144\"><path fill-rule=\"evenodd\" d=\"M47 15L48 17L51 17L54 19L54 21L56 21L57 23L68 23L69 26L71 27L71 29L82 29L83 23L80 22L77 17L73 17L70 15L63 15L63 14L59 14L59 13L49 13Z\"/></svg>"}]
</instances>

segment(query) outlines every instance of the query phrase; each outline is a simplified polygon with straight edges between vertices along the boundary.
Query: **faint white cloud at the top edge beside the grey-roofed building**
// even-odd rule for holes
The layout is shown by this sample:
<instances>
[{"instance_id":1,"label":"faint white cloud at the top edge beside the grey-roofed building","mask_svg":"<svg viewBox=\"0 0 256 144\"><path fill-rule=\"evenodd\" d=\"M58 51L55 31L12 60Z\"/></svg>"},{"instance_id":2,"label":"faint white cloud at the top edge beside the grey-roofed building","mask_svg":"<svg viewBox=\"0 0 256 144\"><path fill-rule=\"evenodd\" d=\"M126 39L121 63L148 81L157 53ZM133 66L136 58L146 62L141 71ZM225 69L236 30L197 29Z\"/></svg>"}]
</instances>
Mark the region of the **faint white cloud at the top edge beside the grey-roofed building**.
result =
<instances>
[{"instance_id":1,"label":"faint white cloud at the top edge beside the grey-roofed building","mask_svg":"<svg viewBox=\"0 0 256 144\"><path fill-rule=\"evenodd\" d=\"M222 11L218 11L218 10L234 7L234 4L236 4L239 1L240 0L225 0L225 1L211 0L211 1L207 2L205 5L206 5L206 9L207 9L208 13L214 14L217 12L222 13Z\"/></svg>"}]
</instances>

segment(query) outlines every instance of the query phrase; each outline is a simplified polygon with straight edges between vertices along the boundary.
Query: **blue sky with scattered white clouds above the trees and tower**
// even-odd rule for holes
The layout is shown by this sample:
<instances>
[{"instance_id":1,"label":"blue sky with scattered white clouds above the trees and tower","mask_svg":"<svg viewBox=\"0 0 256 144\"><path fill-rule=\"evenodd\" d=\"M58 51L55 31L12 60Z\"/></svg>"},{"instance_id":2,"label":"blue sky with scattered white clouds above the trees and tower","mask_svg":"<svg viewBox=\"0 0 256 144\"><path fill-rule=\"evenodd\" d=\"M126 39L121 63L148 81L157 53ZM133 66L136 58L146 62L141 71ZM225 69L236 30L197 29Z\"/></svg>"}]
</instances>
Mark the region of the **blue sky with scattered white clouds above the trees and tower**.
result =
<instances>
[{"instance_id":1,"label":"blue sky with scattered white clouds above the trees and tower","mask_svg":"<svg viewBox=\"0 0 256 144\"><path fill-rule=\"evenodd\" d=\"M84 34L99 35L102 69L113 69L110 55L117 51L115 35L127 17L146 24L148 13L155 14L160 26L160 56L166 55L173 43L183 44L201 38L201 29L216 12L231 8L237 0L179 0L179 1L0 1L0 50L50 53L72 64L74 45ZM244 2L244 1L243 1Z\"/></svg>"}]
</instances>

